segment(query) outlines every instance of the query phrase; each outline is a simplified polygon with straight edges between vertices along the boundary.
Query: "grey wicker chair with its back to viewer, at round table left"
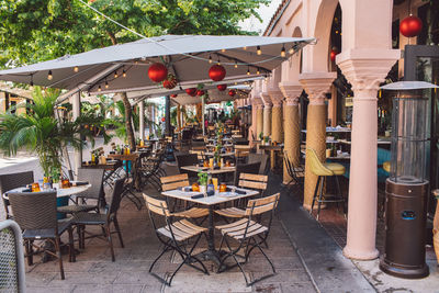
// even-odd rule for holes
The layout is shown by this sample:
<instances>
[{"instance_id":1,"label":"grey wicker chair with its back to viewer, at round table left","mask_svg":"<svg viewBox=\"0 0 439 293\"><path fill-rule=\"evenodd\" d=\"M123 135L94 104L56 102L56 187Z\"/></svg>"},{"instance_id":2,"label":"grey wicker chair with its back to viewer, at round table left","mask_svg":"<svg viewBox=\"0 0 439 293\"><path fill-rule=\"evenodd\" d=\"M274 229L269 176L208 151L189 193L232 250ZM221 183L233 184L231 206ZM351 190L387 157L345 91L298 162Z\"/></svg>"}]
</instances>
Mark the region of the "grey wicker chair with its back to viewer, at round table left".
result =
<instances>
[{"instance_id":1,"label":"grey wicker chair with its back to viewer, at round table left","mask_svg":"<svg viewBox=\"0 0 439 293\"><path fill-rule=\"evenodd\" d=\"M60 236L68 232L69 261L75 261L74 235L70 221L58 222L56 218L56 191L10 192L8 195L14 221L23 230L27 264L33 263L33 255L41 251L47 252L58 258L59 271L64 280ZM34 244L35 240L52 243L56 252L47 250L44 243L42 245ZM37 250L34 251L33 248Z\"/></svg>"}]
</instances>

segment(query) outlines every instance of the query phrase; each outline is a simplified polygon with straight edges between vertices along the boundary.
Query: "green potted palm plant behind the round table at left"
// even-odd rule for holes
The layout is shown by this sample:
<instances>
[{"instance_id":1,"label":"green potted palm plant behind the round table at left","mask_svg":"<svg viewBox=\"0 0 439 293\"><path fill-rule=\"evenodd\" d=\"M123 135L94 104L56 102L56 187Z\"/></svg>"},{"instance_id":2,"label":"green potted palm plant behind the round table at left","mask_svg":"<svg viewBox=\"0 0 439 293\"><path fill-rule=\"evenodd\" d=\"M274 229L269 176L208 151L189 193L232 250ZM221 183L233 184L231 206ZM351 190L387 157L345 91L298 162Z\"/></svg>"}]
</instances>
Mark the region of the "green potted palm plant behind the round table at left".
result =
<instances>
[{"instance_id":1,"label":"green potted palm plant behind the round table at left","mask_svg":"<svg viewBox=\"0 0 439 293\"><path fill-rule=\"evenodd\" d=\"M25 105L25 114L8 112L0 115L0 149L7 156L15 156L20 149L35 153L45 176L59 172L64 147L69 145L79 149L82 146L80 136L76 134L85 135L94 143L91 133L82 125L101 124L89 116L80 116L76 121L58 120L56 99L59 93L56 89L35 87L34 103Z\"/></svg>"}]
</instances>

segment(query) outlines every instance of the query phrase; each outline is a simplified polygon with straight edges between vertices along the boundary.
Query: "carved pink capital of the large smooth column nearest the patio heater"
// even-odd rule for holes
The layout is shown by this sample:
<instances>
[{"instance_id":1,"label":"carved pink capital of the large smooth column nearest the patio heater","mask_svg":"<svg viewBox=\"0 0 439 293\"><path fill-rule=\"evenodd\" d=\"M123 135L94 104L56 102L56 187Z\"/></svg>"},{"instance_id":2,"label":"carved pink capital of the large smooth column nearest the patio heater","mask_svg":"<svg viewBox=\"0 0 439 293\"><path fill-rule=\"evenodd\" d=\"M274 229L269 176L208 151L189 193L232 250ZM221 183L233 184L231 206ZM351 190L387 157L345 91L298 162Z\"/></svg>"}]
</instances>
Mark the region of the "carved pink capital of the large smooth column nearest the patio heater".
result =
<instances>
[{"instance_id":1,"label":"carved pink capital of the large smooth column nearest the patio heater","mask_svg":"<svg viewBox=\"0 0 439 293\"><path fill-rule=\"evenodd\" d=\"M380 83L401 57L398 49L351 49L337 55L337 65L352 84L354 99L376 99Z\"/></svg>"}]
</instances>

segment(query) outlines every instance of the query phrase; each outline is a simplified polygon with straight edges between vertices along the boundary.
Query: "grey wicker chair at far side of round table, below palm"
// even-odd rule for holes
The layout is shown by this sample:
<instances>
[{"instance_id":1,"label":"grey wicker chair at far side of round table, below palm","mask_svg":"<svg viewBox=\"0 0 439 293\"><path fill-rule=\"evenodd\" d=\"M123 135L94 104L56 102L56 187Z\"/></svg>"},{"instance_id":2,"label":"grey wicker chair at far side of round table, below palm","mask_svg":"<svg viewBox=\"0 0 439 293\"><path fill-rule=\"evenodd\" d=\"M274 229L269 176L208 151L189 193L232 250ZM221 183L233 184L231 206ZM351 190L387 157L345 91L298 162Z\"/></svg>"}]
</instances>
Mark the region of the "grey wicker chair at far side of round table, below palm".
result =
<instances>
[{"instance_id":1,"label":"grey wicker chair at far side of round table, below palm","mask_svg":"<svg viewBox=\"0 0 439 293\"><path fill-rule=\"evenodd\" d=\"M95 211L105 206L105 193L103 191L103 169L79 169L78 180L88 181L91 188L76 194L75 204L58 207L58 213L74 214L79 212ZM81 200L81 203L79 203ZM95 200L94 204L87 204L87 200Z\"/></svg>"}]
</instances>

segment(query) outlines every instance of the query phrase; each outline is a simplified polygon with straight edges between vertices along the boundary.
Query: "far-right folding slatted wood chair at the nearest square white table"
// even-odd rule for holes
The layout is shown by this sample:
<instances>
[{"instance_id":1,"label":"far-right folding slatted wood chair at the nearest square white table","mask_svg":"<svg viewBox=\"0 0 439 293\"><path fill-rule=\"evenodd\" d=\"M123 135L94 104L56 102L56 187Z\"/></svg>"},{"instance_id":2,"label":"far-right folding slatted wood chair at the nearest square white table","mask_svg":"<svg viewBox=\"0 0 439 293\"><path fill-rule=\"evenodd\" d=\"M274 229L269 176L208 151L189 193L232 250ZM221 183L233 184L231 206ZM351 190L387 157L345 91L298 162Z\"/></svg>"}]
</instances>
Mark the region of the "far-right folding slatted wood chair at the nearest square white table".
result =
<instances>
[{"instance_id":1,"label":"far-right folding slatted wood chair at the nearest square white table","mask_svg":"<svg viewBox=\"0 0 439 293\"><path fill-rule=\"evenodd\" d=\"M267 182L268 176L266 174L240 173L238 187L258 190L262 196L263 192L267 190ZM230 206L216 210L215 213L225 217L241 218L246 215L246 210Z\"/></svg>"}]
</instances>

